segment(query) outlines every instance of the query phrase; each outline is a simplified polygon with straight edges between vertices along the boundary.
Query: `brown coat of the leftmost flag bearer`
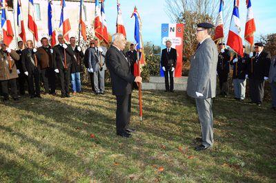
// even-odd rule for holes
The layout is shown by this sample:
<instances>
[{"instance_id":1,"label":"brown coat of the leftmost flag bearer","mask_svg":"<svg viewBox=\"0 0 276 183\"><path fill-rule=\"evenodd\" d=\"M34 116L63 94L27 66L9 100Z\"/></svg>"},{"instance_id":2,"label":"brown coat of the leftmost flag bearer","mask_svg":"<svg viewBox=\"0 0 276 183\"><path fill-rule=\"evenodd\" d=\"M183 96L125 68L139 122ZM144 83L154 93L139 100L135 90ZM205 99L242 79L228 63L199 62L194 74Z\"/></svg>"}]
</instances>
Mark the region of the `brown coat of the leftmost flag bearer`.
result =
<instances>
[{"instance_id":1,"label":"brown coat of the leftmost flag bearer","mask_svg":"<svg viewBox=\"0 0 276 183\"><path fill-rule=\"evenodd\" d=\"M19 61L19 58L19 54L12 50L12 52L10 52L9 64L7 52L3 52L3 50L0 50L0 80L10 80L12 78L18 78L17 66L15 65L14 61Z\"/></svg>"}]
</instances>

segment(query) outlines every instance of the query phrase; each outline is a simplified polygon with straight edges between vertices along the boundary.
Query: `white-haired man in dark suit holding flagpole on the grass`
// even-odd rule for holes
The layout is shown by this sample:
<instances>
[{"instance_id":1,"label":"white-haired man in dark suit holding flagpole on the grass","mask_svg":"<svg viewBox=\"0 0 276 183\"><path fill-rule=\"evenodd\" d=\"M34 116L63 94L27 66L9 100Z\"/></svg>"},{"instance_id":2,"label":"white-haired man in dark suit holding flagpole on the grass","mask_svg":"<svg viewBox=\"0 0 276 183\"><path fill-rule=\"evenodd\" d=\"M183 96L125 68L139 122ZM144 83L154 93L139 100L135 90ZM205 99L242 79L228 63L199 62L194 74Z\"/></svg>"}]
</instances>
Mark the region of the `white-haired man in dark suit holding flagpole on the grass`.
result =
<instances>
[{"instance_id":1,"label":"white-haired man in dark suit holding flagpole on the grass","mask_svg":"<svg viewBox=\"0 0 276 183\"><path fill-rule=\"evenodd\" d=\"M126 37L124 34L115 34L112 45L106 52L106 66L110 71L112 94L117 99L116 128L117 136L130 137L135 131L129 129L132 83L141 83L140 76L133 76L130 72L130 61L124 53Z\"/></svg>"}]
</instances>

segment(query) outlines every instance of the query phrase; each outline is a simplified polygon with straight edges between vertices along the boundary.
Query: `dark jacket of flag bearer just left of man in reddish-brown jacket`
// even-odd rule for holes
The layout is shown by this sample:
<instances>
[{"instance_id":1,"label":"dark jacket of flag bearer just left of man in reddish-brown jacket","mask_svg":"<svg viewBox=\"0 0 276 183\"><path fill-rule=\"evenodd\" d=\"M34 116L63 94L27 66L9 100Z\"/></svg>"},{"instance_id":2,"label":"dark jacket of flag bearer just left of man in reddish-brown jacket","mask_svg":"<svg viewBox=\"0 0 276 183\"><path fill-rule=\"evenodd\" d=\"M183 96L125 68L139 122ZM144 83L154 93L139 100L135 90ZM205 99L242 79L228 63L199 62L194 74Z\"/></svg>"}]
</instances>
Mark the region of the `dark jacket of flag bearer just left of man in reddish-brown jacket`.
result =
<instances>
[{"instance_id":1,"label":"dark jacket of flag bearer just left of man in reddish-brown jacket","mask_svg":"<svg viewBox=\"0 0 276 183\"><path fill-rule=\"evenodd\" d=\"M37 67L32 63L31 57L33 61L35 62L35 59L37 59ZM24 49L22 51L22 68L23 72L28 72L29 74L32 74L35 69L40 70L39 67L39 53L34 53L32 50L30 51L28 48Z\"/></svg>"}]
</instances>

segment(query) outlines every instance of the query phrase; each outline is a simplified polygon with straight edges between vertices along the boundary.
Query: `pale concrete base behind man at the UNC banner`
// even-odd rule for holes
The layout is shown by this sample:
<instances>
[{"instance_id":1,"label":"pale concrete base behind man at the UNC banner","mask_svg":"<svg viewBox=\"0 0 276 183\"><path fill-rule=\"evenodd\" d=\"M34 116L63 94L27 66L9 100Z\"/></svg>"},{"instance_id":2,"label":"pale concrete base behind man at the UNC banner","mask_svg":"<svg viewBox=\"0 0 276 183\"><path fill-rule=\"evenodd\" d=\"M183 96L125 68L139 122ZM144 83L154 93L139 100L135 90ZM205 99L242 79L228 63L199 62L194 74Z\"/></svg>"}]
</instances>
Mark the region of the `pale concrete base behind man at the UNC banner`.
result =
<instances>
[{"instance_id":1,"label":"pale concrete base behind man at the UNC banner","mask_svg":"<svg viewBox=\"0 0 276 183\"><path fill-rule=\"evenodd\" d=\"M175 90L186 91L188 77L174 78ZM150 83L143 83L142 89L145 90L165 90L165 78L159 76L150 76Z\"/></svg>"}]
</instances>

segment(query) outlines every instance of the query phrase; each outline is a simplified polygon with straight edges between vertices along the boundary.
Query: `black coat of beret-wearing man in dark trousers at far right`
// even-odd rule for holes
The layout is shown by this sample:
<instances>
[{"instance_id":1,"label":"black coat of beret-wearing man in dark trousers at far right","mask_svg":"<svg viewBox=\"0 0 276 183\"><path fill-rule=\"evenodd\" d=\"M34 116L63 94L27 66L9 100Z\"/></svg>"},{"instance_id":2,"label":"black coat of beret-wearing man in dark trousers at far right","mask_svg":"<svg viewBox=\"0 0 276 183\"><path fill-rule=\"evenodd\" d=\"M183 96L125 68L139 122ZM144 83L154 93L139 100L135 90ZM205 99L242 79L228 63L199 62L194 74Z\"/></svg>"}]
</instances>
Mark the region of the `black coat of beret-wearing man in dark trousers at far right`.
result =
<instances>
[{"instance_id":1,"label":"black coat of beret-wearing man in dark trousers at far right","mask_svg":"<svg viewBox=\"0 0 276 183\"><path fill-rule=\"evenodd\" d=\"M264 50L255 58L256 52L253 53L253 58L250 58L248 62L247 72L248 78L253 78L256 80L264 80L264 77L269 76L270 68L270 55Z\"/></svg>"}]
</instances>

